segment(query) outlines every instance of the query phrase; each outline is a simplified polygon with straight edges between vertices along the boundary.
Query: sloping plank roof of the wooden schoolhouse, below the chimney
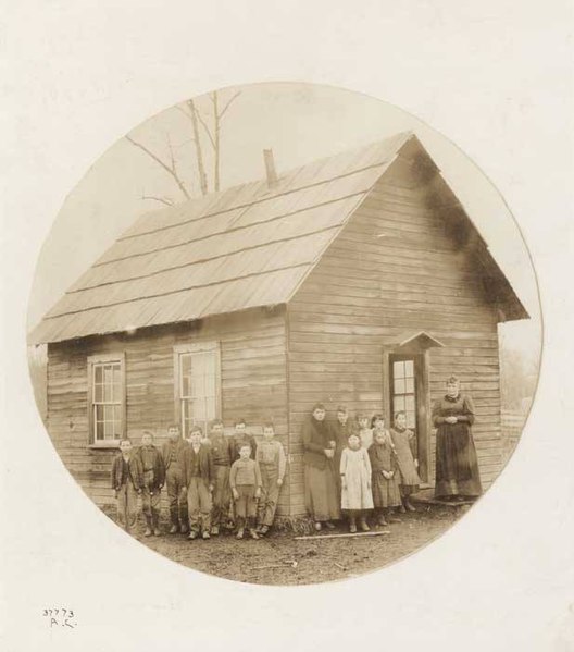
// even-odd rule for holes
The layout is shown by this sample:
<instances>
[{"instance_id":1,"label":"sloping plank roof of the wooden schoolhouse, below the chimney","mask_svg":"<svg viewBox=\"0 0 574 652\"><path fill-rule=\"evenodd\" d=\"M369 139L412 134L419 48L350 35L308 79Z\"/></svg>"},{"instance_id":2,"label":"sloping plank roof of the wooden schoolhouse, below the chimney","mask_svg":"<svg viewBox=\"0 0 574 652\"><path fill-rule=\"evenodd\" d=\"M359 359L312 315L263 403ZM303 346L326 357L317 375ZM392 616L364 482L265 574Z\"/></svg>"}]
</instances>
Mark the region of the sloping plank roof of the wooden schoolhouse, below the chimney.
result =
<instances>
[{"instance_id":1,"label":"sloping plank roof of the wooden schoolhouse, below the chimney","mask_svg":"<svg viewBox=\"0 0 574 652\"><path fill-rule=\"evenodd\" d=\"M291 170L273 187L246 183L142 216L45 316L32 342L287 303L409 142L424 151L401 133Z\"/></svg>"}]
</instances>

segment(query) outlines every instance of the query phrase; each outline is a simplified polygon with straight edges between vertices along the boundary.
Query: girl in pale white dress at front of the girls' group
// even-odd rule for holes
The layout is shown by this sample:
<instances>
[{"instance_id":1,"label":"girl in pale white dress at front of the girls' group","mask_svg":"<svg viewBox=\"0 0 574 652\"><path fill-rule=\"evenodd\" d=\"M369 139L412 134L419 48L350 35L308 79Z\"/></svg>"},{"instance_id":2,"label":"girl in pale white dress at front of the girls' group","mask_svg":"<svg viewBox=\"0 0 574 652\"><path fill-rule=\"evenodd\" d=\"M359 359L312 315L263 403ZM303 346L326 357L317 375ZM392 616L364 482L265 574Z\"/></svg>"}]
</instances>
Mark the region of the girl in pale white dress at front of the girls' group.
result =
<instances>
[{"instance_id":1,"label":"girl in pale white dress at front of the girls' group","mask_svg":"<svg viewBox=\"0 0 574 652\"><path fill-rule=\"evenodd\" d=\"M366 514L369 509L373 509L371 460L357 434L349 436L348 444L341 453L340 462L341 508L349 516L350 532L357 532L357 518L361 530L369 532Z\"/></svg>"}]
</instances>

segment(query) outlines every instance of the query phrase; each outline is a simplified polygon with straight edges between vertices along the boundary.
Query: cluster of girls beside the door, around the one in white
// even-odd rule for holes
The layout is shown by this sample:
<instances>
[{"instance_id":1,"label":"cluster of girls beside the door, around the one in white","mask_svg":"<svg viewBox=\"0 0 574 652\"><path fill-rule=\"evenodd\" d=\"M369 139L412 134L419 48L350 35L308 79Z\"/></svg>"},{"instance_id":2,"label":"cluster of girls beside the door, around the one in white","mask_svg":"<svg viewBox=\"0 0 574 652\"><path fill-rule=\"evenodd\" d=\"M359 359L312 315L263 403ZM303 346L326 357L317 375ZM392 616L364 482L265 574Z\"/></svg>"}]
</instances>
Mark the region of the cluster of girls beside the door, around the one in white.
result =
<instances>
[{"instance_id":1,"label":"cluster of girls beside the door, around the one in white","mask_svg":"<svg viewBox=\"0 0 574 652\"><path fill-rule=\"evenodd\" d=\"M330 445L336 451L333 471L339 475L340 508L348 516L350 532L357 532L358 521L361 530L370 530L370 510L375 512L380 526L397 521L396 509L415 512L410 496L417 491L421 478L415 436L407 428L405 413L395 415L390 430L385 428L383 415L372 419L359 415L355 425L348 419L347 409L339 407ZM315 526L321 529L321 522Z\"/></svg>"}]
</instances>

